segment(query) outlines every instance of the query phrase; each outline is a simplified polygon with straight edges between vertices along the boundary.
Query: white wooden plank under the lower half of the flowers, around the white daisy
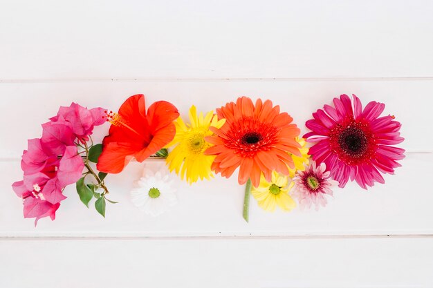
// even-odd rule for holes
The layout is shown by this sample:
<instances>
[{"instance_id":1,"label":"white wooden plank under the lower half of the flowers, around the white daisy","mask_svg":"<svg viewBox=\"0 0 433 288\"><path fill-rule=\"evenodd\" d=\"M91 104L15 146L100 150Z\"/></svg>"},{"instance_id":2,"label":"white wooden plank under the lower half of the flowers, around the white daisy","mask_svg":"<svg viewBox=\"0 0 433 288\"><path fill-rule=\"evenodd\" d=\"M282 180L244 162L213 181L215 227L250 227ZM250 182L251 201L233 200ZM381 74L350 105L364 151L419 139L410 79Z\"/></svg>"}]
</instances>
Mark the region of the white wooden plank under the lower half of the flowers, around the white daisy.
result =
<instances>
[{"instance_id":1,"label":"white wooden plank under the lower half of the flowers, around the white daisy","mask_svg":"<svg viewBox=\"0 0 433 288\"><path fill-rule=\"evenodd\" d=\"M147 162L147 169L164 166ZM0 236L4 237L189 237L189 236L333 236L333 235L429 235L433 234L431 189L420 175L433 169L432 153L410 153L386 184L369 191L350 183L335 189L326 209L291 213L268 213L252 199L250 223L241 216L243 186L237 179L216 176L212 182L189 186L178 182L178 204L172 211L151 218L133 207L129 191L142 173L134 162L118 175L109 175L111 200L106 218L80 202L75 186L68 186L57 218L33 220L22 216L21 200L12 192L12 182L22 177L19 162L0 162ZM177 184L176 184L177 185Z\"/></svg>"}]
</instances>

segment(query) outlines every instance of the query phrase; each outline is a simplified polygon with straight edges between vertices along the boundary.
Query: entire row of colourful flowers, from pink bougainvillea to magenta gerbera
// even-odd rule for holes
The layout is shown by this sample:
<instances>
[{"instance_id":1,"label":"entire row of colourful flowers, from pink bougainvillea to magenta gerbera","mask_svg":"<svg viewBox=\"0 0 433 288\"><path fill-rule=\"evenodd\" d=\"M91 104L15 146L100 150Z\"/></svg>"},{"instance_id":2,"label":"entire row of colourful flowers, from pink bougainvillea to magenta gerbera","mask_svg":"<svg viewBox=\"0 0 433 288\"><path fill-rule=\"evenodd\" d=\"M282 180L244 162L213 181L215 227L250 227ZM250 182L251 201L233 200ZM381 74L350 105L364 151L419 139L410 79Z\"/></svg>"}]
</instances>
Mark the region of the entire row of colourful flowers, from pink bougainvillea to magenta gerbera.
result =
<instances>
[{"instance_id":1,"label":"entire row of colourful flowers, from pink bougainvillea to magenta gerbera","mask_svg":"<svg viewBox=\"0 0 433 288\"><path fill-rule=\"evenodd\" d=\"M270 100L239 97L216 109L197 113L189 122L171 103L158 101L146 110L144 95L129 97L118 112L87 109L72 103L42 124L42 137L28 140L21 159L23 180L12 189L23 200L24 217L55 219L63 191L75 184L80 200L105 215L109 189L104 180L125 166L149 157L165 159L167 169L145 171L131 191L131 199L151 215L176 203L168 171L193 184L214 174L246 185L243 218L248 222L250 194L259 207L291 211L324 207L333 187L356 181L363 189L385 183L394 174L405 150L401 124L382 115L385 104L369 102L364 108L353 95L335 97L313 113L300 135L293 118ZM102 144L91 138L93 128L111 124ZM95 163L96 165L92 164Z\"/></svg>"}]
</instances>

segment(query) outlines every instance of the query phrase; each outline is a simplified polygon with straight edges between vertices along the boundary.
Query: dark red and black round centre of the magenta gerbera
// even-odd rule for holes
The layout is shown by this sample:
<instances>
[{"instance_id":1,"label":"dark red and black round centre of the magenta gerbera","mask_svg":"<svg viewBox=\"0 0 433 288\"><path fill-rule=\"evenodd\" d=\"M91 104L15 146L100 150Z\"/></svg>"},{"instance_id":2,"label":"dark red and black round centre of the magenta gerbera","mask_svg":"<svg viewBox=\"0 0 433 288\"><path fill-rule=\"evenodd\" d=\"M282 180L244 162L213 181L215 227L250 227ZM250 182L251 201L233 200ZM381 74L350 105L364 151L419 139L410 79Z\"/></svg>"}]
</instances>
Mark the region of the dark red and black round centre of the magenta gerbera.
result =
<instances>
[{"instance_id":1,"label":"dark red and black round centre of the magenta gerbera","mask_svg":"<svg viewBox=\"0 0 433 288\"><path fill-rule=\"evenodd\" d=\"M335 126L329 134L333 152L349 165L362 164L374 156L376 141L367 124L351 120Z\"/></svg>"}]
</instances>

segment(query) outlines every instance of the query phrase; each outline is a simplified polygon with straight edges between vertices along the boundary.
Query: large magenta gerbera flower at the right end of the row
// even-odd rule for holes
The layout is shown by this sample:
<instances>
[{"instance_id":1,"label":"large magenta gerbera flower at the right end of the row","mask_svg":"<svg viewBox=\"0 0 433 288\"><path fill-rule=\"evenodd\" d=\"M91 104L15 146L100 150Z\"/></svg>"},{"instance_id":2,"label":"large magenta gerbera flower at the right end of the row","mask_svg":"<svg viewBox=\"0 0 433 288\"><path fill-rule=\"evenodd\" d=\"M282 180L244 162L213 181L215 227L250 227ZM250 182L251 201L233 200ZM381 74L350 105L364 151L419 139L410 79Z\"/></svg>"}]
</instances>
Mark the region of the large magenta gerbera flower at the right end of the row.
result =
<instances>
[{"instance_id":1,"label":"large magenta gerbera flower at the right end of the row","mask_svg":"<svg viewBox=\"0 0 433 288\"><path fill-rule=\"evenodd\" d=\"M347 95L334 98L335 106L324 105L313 113L314 119L306 122L312 130L306 133L307 142L315 143L308 154L318 164L324 162L331 177L344 187L347 181L356 180L363 188L374 182L385 183L380 173L394 174L401 166L405 152L391 145L403 142L400 122L394 116L379 117L385 104L369 102L362 110L360 99Z\"/></svg>"}]
</instances>

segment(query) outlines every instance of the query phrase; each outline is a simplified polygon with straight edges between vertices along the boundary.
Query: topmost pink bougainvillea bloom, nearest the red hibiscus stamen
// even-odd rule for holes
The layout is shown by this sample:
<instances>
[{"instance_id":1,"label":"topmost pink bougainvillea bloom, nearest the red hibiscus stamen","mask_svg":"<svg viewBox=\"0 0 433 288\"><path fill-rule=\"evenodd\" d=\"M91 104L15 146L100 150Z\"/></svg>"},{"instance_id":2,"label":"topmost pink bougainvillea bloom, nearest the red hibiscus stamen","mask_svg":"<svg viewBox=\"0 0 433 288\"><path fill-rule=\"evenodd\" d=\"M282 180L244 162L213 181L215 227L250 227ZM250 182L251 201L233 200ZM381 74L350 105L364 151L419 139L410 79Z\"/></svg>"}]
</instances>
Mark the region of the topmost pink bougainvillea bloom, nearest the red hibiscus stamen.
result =
<instances>
[{"instance_id":1,"label":"topmost pink bougainvillea bloom, nearest the red hibiscus stamen","mask_svg":"<svg viewBox=\"0 0 433 288\"><path fill-rule=\"evenodd\" d=\"M70 124L72 132L79 140L88 141L94 126L106 122L104 108L87 109L79 104L72 103L71 106L61 106L55 117L50 118L51 122L64 121Z\"/></svg>"}]
</instances>

